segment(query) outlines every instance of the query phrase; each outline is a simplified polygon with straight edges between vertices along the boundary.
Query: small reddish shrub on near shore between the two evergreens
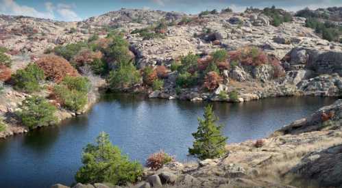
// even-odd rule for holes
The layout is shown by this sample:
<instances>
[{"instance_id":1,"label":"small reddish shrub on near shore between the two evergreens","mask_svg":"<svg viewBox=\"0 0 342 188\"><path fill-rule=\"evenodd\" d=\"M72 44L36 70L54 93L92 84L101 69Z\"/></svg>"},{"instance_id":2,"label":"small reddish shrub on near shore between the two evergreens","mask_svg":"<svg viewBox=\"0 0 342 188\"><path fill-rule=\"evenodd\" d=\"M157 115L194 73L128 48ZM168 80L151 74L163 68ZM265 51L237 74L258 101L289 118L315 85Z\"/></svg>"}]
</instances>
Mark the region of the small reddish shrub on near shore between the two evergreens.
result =
<instances>
[{"instance_id":1,"label":"small reddish shrub on near shore between the two evergreens","mask_svg":"<svg viewBox=\"0 0 342 188\"><path fill-rule=\"evenodd\" d=\"M151 167L152 170L160 169L164 164L171 163L175 161L174 157L171 157L166 152L160 150L149 156L146 161L146 166Z\"/></svg>"}]
</instances>

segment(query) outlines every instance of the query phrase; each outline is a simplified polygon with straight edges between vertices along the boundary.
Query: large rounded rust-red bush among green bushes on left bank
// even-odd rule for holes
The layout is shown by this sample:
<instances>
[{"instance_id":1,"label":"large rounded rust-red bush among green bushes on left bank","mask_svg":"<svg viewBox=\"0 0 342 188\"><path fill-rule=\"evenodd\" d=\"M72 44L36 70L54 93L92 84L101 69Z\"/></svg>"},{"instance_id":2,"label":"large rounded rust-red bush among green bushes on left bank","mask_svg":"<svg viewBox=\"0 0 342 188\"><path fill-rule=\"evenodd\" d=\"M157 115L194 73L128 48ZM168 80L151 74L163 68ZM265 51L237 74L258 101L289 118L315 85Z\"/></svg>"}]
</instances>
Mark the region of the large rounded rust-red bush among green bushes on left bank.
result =
<instances>
[{"instance_id":1,"label":"large rounded rust-red bush among green bushes on left bank","mask_svg":"<svg viewBox=\"0 0 342 188\"><path fill-rule=\"evenodd\" d=\"M36 64L42 68L45 77L52 81L60 82L67 75L79 76L77 70L66 59L57 55L45 55L38 59Z\"/></svg>"}]
</instances>

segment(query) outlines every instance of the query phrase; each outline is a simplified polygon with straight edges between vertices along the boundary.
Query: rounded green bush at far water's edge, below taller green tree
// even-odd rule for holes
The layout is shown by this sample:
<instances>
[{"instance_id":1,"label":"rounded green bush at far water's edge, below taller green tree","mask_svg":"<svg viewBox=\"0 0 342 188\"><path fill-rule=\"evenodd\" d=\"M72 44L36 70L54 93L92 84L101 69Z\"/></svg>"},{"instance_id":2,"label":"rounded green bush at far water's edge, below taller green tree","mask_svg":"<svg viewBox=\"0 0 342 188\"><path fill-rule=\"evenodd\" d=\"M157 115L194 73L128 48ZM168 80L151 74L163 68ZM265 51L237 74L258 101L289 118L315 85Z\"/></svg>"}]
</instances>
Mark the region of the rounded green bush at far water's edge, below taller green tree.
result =
<instances>
[{"instance_id":1,"label":"rounded green bush at far water's edge, below taller green tree","mask_svg":"<svg viewBox=\"0 0 342 188\"><path fill-rule=\"evenodd\" d=\"M130 62L122 62L119 68L112 70L108 76L108 83L112 90L132 88L141 81L141 75Z\"/></svg>"}]
</instances>

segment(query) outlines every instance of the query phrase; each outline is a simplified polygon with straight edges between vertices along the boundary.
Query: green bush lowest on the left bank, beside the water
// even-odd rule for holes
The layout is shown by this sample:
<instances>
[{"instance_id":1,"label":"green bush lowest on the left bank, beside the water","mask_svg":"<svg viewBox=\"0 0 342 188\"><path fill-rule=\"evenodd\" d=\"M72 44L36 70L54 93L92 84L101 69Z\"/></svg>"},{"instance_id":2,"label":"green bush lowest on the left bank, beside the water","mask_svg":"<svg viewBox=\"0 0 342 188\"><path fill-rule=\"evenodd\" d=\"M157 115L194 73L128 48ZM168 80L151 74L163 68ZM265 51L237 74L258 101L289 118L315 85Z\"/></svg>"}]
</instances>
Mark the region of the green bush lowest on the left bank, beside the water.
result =
<instances>
[{"instance_id":1,"label":"green bush lowest on the left bank, beside the water","mask_svg":"<svg viewBox=\"0 0 342 188\"><path fill-rule=\"evenodd\" d=\"M47 99L40 96L31 96L23 100L19 105L19 111L16 114L29 129L35 129L39 126L48 126L57 121L55 116L56 107L51 105Z\"/></svg>"}]
</instances>

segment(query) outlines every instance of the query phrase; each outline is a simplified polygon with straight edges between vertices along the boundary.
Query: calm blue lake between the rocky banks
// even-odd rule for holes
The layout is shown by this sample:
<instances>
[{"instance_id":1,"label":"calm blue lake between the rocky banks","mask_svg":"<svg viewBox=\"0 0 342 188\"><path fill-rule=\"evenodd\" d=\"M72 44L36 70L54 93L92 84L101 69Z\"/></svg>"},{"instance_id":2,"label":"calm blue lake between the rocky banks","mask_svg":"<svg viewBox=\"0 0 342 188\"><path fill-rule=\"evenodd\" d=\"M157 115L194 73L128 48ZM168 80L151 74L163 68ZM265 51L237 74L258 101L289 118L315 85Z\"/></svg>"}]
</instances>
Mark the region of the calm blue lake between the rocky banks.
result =
<instances>
[{"instance_id":1,"label":"calm blue lake between the rocky banks","mask_svg":"<svg viewBox=\"0 0 342 188\"><path fill-rule=\"evenodd\" d=\"M213 103L224 124L228 143L265 137L293 120L330 105L337 98L268 98L249 103ZM207 103L147 99L142 96L104 96L88 114L51 126L0 140L0 187L50 187L71 185L82 165L82 148L101 131L110 135L130 159L145 159L160 149L179 161L192 146Z\"/></svg>"}]
</instances>

